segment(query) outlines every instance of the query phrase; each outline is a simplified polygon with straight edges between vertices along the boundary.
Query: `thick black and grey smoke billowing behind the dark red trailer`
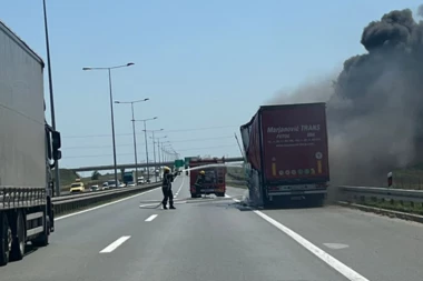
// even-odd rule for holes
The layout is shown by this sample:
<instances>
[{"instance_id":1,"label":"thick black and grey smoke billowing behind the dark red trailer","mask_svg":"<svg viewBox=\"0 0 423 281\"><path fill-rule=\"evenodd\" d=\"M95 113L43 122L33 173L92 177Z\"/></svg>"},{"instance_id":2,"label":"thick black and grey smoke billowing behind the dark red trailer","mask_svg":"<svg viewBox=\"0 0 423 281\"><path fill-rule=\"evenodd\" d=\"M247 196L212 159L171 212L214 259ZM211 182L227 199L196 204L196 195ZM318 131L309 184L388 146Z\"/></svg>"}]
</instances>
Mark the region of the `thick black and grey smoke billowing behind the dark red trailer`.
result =
<instances>
[{"instance_id":1,"label":"thick black and grey smoke billowing behind the dark red trailer","mask_svg":"<svg viewBox=\"0 0 423 281\"><path fill-rule=\"evenodd\" d=\"M272 103L326 101L332 182L381 185L423 157L423 22L391 11L364 28L361 43L367 53L337 77Z\"/></svg>"}]
</instances>

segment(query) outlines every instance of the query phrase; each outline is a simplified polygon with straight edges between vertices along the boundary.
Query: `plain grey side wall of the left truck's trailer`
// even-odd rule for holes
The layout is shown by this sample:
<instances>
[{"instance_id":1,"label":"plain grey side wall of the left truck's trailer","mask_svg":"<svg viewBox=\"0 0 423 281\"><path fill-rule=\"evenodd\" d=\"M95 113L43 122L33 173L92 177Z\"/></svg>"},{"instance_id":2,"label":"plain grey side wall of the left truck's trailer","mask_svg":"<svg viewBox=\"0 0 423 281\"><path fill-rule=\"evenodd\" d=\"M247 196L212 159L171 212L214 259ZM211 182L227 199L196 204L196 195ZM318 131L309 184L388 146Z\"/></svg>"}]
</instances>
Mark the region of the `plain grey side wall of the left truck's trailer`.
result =
<instances>
[{"instance_id":1,"label":"plain grey side wall of the left truck's trailer","mask_svg":"<svg viewBox=\"0 0 423 281\"><path fill-rule=\"evenodd\" d=\"M43 188L43 63L1 22L0 61L0 185Z\"/></svg>"}]
</instances>

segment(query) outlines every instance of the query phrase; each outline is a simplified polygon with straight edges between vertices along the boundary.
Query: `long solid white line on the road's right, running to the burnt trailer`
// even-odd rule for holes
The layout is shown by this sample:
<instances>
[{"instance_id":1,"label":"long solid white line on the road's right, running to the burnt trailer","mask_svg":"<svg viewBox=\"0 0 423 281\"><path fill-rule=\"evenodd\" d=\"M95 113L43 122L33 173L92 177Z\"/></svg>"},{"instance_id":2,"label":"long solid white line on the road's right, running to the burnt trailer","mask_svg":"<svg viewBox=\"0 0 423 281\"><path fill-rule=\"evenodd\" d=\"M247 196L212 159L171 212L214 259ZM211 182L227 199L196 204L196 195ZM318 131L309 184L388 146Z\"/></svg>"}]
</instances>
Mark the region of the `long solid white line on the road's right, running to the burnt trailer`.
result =
<instances>
[{"instance_id":1,"label":"long solid white line on the road's right, running to the burnt trailer","mask_svg":"<svg viewBox=\"0 0 423 281\"><path fill-rule=\"evenodd\" d=\"M235 202L240 202L239 200L234 199L234 198L233 198L233 200ZM287 234L292 239L294 239L297 243L299 243L302 247L304 247L305 249L307 249L308 251L311 251L318 259L321 259L326 264L328 264L329 267L332 267L334 270L336 270L337 272L340 272L341 274L343 274L350 281L370 281L365 277L361 275L358 272L354 271L352 268L348 268L347 265L345 265L341 261L336 260L334 257L332 257L331 254L326 253L325 251L323 251L322 249L319 249L318 247L316 247L315 244L313 244L312 242L309 242L308 240L306 240L305 238L303 238L298 233L296 233L293 230L288 229L287 227L285 227L281 222L272 219L270 217L268 217L267 214L265 214L265 213L263 213L263 212L260 212L258 210L253 210L253 212L255 214L257 214L258 217L260 217L262 219L264 219L265 221L267 221L270 224L273 224L275 228L277 228L278 230L281 230L285 234Z\"/></svg>"}]
</instances>

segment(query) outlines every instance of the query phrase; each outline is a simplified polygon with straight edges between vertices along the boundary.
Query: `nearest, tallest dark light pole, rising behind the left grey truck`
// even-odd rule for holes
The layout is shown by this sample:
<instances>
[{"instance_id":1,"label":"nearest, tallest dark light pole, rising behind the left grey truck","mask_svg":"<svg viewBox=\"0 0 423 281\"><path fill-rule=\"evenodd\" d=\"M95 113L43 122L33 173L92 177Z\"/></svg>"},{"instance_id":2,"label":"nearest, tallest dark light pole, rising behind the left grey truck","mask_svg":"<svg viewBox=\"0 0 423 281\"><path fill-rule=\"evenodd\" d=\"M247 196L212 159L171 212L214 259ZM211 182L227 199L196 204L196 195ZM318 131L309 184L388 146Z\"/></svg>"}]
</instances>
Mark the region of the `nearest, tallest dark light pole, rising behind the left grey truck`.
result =
<instances>
[{"instance_id":1,"label":"nearest, tallest dark light pole, rising behind the left grey truck","mask_svg":"<svg viewBox=\"0 0 423 281\"><path fill-rule=\"evenodd\" d=\"M55 114L55 94L52 89L52 74L51 74L51 59L50 59L50 40L49 40L49 29L47 24L47 7L46 0L42 0L42 10L45 16L45 34L46 34L46 51L47 51L47 66L48 66L48 76L49 76L49 92L50 92L50 114L51 114L51 127L56 131L56 114ZM59 171L59 161L55 161L55 185L56 185L56 195L60 197L60 171ZM53 192L53 190L52 190Z\"/></svg>"}]
</instances>

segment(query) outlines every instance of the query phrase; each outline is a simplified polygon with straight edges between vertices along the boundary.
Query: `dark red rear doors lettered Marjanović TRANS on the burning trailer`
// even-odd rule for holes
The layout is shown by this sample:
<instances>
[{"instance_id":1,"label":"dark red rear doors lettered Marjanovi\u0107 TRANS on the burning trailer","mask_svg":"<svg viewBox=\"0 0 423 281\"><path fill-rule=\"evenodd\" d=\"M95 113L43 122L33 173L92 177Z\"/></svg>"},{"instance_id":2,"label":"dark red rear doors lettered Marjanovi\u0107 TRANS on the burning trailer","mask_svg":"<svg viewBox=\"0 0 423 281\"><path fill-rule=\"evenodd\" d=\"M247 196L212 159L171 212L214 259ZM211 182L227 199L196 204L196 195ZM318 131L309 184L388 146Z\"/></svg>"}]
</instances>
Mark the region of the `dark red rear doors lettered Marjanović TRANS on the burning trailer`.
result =
<instances>
[{"instance_id":1,"label":"dark red rear doors lettered Marjanovi\u0107 TRANS on the burning trailer","mask_svg":"<svg viewBox=\"0 0 423 281\"><path fill-rule=\"evenodd\" d=\"M328 181L324 103L263 107L262 126L268 183Z\"/></svg>"}]
</instances>

